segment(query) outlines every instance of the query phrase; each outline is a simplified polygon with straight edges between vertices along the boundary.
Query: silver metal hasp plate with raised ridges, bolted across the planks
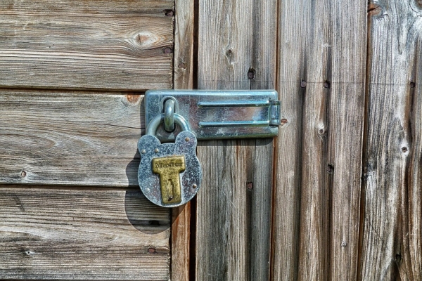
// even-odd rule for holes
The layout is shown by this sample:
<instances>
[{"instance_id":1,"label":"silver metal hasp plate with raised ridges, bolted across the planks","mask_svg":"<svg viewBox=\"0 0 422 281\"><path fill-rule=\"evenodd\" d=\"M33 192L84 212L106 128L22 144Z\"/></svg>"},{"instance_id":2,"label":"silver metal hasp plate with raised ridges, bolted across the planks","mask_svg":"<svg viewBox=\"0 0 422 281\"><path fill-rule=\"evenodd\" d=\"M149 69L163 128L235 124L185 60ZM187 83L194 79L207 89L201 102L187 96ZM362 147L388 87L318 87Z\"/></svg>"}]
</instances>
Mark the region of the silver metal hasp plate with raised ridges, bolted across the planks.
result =
<instances>
[{"instance_id":1,"label":"silver metal hasp plate with raised ridges, bolted across the planks","mask_svg":"<svg viewBox=\"0 0 422 281\"><path fill-rule=\"evenodd\" d=\"M158 115L165 116L165 126L155 132L162 142L174 141L181 131L179 126L171 131L174 114L186 119L198 140L271 138L279 133L280 101L274 90L146 91L146 124Z\"/></svg>"}]
</instances>

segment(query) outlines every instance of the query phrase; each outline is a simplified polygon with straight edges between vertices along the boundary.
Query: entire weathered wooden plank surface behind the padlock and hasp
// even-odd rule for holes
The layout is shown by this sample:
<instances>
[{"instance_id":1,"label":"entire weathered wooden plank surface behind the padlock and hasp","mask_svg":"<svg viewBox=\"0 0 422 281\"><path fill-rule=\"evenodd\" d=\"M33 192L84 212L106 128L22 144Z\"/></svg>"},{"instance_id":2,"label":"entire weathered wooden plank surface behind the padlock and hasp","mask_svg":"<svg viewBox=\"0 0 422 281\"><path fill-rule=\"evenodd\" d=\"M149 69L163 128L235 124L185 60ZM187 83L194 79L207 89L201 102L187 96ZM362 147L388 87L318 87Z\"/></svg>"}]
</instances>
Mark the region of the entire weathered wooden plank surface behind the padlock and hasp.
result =
<instances>
[{"instance_id":1,"label":"entire weathered wooden plank surface behind the padlock and hasp","mask_svg":"<svg viewBox=\"0 0 422 281\"><path fill-rule=\"evenodd\" d=\"M420 1L4 0L0 279L422 280ZM146 89L276 89L141 195Z\"/></svg>"}]
</instances>

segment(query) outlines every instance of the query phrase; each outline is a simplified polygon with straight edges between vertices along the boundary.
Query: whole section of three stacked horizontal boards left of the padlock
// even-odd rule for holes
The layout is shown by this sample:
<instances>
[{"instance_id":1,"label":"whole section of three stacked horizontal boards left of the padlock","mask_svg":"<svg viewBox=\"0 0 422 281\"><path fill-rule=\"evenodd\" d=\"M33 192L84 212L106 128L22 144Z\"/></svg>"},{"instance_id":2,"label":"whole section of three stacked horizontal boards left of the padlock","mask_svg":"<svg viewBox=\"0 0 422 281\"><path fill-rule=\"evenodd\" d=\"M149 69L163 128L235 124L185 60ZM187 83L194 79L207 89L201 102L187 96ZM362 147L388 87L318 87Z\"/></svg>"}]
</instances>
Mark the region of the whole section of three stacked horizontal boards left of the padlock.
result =
<instances>
[{"instance_id":1,"label":"whole section of three stacked horizontal boards left of the padlock","mask_svg":"<svg viewBox=\"0 0 422 281\"><path fill-rule=\"evenodd\" d=\"M170 209L141 195L136 143L139 91L172 87L173 9L1 1L1 280L170 280Z\"/></svg>"}]
</instances>

